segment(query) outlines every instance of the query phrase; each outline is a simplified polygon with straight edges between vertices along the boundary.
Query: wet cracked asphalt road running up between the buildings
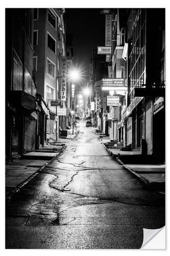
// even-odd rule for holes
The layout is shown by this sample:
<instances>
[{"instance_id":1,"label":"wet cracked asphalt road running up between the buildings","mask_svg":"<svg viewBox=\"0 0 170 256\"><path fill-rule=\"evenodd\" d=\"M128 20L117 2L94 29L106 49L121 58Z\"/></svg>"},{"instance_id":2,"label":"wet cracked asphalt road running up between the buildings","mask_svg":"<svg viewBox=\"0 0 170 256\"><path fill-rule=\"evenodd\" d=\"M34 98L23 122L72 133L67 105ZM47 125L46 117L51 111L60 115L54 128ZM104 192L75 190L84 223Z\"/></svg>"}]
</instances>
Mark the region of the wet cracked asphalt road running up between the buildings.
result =
<instances>
[{"instance_id":1,"label":"wet cracked asphalt road running up between the buildings","mask_svg":"<svg viewBox=\"0 0 170 256\"><path fill-rule=\"evenodd\" d=\"M7 203L6 248L140 248L164 226L164 196L113 161L93 127Z\"/></svg>"}]
</instances>

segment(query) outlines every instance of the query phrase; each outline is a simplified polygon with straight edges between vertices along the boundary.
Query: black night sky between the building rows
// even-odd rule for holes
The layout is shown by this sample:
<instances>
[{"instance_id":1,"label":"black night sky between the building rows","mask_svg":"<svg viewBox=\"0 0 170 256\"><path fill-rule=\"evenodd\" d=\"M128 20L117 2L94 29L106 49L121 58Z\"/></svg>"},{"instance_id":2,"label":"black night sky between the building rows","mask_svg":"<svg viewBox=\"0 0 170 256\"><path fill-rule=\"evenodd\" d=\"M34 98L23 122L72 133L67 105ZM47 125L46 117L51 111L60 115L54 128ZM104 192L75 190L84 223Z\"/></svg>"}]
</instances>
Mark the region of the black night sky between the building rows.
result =
<instances>
[{"instance_id":1,"label":"black night sky between the building rows","mask_svg":"<svg viewBox=\"0 0 170 256\"><path fill-rule=\"evenodd\" d=\"M105 45L105 15L98 8L66 8L66 31L73 36L74 63L89 71L92 49ZM88 73L86 73L88 75Z\"/></svg>"}]
</instances>

